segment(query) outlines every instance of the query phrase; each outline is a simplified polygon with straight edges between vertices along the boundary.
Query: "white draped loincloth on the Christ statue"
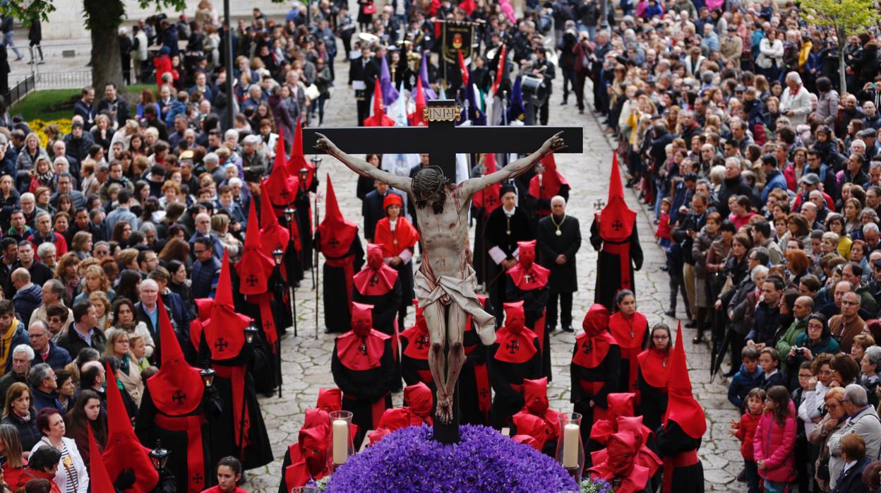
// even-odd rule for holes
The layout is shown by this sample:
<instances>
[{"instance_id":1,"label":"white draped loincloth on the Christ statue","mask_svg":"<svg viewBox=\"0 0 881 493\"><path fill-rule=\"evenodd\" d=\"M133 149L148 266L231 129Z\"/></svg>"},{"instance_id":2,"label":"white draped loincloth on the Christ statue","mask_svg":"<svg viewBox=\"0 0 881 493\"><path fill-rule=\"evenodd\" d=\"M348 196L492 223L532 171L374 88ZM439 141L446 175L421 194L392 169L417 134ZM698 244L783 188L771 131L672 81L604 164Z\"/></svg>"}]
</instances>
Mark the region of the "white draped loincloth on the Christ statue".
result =
<instances>
[{"instance_id":1,"label":"white draped loincloth on the Christ statue","mask_svg":"<svg viewBox=\"0 0 881 493\"><path fill-rule=\"evenodd\" d=\"M477 274L470 265L466 267L468 275L464 279L441 276L434 281L428 279L426 274L422 273L422 269L419 269L413 275L413 291L416 293L419 307L423 310L432 303L440 303L441 296L449 295L453 303L471 316L480 341L485 346L489 346L495 342L495 317L484 311L478 295L474 293L474 288L478 285Z\"/></svg>"}]
</instances>

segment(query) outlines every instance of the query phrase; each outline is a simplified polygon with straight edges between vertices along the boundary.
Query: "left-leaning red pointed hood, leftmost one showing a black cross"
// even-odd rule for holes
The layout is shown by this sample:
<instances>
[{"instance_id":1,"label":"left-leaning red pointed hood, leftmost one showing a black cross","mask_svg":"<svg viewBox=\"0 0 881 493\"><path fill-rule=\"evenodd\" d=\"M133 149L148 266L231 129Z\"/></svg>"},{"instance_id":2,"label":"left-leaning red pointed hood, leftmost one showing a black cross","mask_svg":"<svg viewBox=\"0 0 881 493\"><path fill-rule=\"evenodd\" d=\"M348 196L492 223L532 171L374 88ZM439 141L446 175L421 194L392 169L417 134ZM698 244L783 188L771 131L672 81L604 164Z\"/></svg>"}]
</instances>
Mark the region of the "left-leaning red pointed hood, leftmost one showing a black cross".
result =
<instances>
[{"instance_id":1,"label":"left-leaning red pointed hood, leftmost one showing a black cross","mask_svg":"<svg viewBox=\"0 0 881 493\"><path fill-rule=\"evenodd\" d=\"M202 403L205 385L199 370L183 359L181 345L171 326L162 298L159 298L159 344L162 364L159 373L147 379L150 398L163 414L189 415Z\"/></svg>"}]
</instances>

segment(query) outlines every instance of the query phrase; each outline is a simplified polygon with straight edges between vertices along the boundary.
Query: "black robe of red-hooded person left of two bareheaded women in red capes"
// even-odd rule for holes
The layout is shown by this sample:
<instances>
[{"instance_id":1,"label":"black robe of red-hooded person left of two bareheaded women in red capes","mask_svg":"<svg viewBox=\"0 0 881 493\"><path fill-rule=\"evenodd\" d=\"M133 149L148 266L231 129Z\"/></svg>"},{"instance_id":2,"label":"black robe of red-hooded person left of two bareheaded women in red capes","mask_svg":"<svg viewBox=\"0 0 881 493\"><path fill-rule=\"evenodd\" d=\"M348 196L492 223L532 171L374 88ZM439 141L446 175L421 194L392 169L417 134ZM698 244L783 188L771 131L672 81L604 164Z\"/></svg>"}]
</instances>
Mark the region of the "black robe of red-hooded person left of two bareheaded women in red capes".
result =
<instances>
[{"instance_id":1,"label":"black robe of red-hooded person left of two bareheaded women in red capes","mask_svg":"<svg viewBox=\"0 0 881 493\"><path fill-rule=\"evenodd\" d=\"M578 344L573 347L573 354L578 350ZM594 425L594 408L590 407L590 401L594 401L596 407L608 407L607 398L618 387L618 367L621 364L621 348L617 344L609 347L609 352L603 358L603 362L594 368L584 368L575 363L569 363L569 373L572 378L572 397L569 400L574 404L573 410L583 416L581 420L581 442L587 444L590 437L590 429ZM591 395L581 389L581 380L588 382L604 382L603 387Z\"/></svg>"}]
</instances>

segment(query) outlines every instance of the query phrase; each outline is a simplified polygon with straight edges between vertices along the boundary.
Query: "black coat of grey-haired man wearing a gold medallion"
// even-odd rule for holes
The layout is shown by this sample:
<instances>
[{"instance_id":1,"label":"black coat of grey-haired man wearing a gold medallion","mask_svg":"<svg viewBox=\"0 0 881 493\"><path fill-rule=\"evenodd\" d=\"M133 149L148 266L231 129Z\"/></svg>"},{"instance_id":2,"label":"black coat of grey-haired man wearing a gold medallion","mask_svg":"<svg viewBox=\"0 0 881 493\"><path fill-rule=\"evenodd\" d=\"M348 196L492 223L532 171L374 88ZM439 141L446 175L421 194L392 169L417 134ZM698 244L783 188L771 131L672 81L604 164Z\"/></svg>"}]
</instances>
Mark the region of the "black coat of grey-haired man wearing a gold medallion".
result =
<instances>
[{"instance_id":1,"label":"black coat of grey-haired man wearing a gold medallion","mask_svg":"<svg viewBox=\"0 0 881 493\"><path fill-rule=\"evenodd\" d=\"M536 232L538 245L538 264L551 269L548 286L554 293L574 293L578 291L578 273L575 268L575 254L581 249L581 225L578 220L566 216L560 225L560 235L556 235L557 227L551 222L552 216L538 221ZM559 220L558 220L559 223ZM566 256L566 264L557 265L558 255Z\"/></svg>"}]
</instances>

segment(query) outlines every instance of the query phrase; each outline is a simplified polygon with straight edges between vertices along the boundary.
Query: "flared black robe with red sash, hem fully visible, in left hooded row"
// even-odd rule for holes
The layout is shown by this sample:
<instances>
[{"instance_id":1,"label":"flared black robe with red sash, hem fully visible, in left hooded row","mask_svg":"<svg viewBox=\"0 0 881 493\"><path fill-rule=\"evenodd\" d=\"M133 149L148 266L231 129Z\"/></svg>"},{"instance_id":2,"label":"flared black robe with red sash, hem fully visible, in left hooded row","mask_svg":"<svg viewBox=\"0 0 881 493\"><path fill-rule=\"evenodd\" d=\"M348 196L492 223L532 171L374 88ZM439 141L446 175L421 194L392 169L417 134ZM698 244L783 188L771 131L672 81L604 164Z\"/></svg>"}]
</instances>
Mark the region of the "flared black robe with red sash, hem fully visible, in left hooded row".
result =
<instances>
[{"instance_id":1,"label":"flared black robe with red sash, hem fully visible, in left hooded row","mask_svg":"<svg viewBox=\"0 0 881 493\"><path fill-rule=\"evenodd\" d=\"M206 361L211 358L204 336L199 344L198 361ZM218 369L220 366L239 366L248 363L248 371L245 373L245 406L248 409L248 446L240 455L239 446L235 444L239 437L235 436L235 412L233 407L233 382L229 378L214 377L214 387L218 390L218 396L223 402L223 411L211 429L211 458L219 460L227 455L235 458L244 457L243 467L254 469L269 464L275 458L272 456L270 437L263 422L263 414L260 411L260 403L257 402L254 378L251 370L267 364L266 355L259 344L242 347L241 354L230 360L211 360L211 366ZM241 405L241 403L239 404Z\"/></svg>"}]
</instances>

